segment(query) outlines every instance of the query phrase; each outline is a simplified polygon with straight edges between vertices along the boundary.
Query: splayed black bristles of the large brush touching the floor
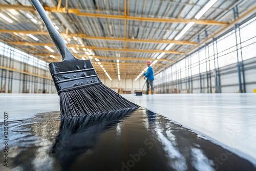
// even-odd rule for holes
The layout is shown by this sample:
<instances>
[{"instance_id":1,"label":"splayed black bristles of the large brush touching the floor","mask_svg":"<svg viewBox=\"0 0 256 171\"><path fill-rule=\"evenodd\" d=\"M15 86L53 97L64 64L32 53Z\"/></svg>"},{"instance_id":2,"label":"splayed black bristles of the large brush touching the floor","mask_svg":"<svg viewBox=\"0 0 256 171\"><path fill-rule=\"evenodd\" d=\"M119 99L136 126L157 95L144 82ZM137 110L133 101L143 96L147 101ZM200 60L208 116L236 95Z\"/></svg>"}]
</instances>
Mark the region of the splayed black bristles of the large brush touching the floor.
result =
<instances>
[{"instance_id":1,"label":"splayed black bristles of the large brush touching the floor","mask_svg":"<svg viewBox=\"0 0 256 171\"><path fill-rule=\"evenodd\" d=\"M62 119L140 107L103 83L61 92L59 99Z\"/></svg>"}]
</instances>

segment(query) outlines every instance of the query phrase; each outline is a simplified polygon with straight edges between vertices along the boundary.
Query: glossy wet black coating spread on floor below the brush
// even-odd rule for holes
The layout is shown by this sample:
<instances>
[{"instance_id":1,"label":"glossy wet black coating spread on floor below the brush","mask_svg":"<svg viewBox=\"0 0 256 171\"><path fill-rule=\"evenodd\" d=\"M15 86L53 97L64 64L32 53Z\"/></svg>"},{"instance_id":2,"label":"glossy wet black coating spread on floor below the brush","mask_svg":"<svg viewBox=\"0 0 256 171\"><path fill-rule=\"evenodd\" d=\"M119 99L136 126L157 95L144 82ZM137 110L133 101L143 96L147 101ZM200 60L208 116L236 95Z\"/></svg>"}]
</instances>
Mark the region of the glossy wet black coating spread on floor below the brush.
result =
<instances>
[{"instance_id":1,"label":"glossy wet black coating spread on floor below the brush","mask_svg":"<svg viewBox=\"0 0 256 171\"><path fill-rule=\"evenodd\" d=\"M58 116L43 113L9 123L8 169L255 170L247 160L144 108L67 120Z\"/></svg>"}]
</instances>

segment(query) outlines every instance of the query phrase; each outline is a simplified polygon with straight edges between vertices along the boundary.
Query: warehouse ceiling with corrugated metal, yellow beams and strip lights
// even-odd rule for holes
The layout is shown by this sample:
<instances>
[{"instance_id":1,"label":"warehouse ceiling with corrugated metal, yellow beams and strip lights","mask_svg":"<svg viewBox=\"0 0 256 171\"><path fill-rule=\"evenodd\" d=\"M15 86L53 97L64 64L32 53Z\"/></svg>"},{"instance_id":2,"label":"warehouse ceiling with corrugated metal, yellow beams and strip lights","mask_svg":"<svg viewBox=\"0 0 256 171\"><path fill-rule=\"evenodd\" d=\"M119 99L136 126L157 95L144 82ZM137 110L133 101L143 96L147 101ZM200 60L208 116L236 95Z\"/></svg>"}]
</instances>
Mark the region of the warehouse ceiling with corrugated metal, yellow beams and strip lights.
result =
<instances>
[{"instance_id":1,"label":"warehouse ceiling with corrugated metal, yellow beams and strip lights","mask_svg":"<svg viewBox=\"0 0 256 171\"><path fill-rule=\"evenodd\" d=\"M241 15L256 6L251 0L219 0L198 18L198 13L210 1L40 2L73 55L91 59L101 78L107 77L105 70L112 79L118 78L117 59L121 79L135 79L145 69L147 60L158 59L153 66L157 73L195 48L198 40L203 42L233 22L233 8ZM48 62L61 61L45 25L29 1L0 1L0 10L12 21L0 17L0 40ZM185 31L186 28L189 29Z\"/></svg>"}]
</instances>

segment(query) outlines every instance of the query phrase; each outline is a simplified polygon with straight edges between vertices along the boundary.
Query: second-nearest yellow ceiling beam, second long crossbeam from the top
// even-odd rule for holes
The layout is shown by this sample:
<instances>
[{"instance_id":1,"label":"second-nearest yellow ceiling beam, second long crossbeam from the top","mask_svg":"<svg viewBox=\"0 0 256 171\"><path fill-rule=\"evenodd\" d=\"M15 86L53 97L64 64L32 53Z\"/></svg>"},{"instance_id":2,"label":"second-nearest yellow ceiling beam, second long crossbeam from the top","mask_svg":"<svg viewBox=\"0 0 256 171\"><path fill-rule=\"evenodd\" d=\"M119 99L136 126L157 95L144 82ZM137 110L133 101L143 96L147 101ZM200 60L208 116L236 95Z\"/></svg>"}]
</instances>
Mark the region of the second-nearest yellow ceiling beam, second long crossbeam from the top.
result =
<instances>
[{"instance_id":1,"label":"second-nearest yellow ceiling beam, second long crossbeam from the top","mask_svg":"<svg viewBox=\"0 0 256 171\"><path fill-rule=\"evenodd\" d=\"M23 33L23 34L39 34L39 35L49 35L48 32L40 32L33 30L0 30L0 33ZM66 33L60 33L61 35L66 35ZM180 40L146 40L146 39L132 39L132 38L113 38L113 37L95 37L95 36L87 36L86 34L79 33L69 33L69 37L79 37L85 39L101 39L101 40L111 40L111 41L129 41L129 42L148 42L148 43L157 43L157 44L176 44L176 45L198 45L197 42L191 41L180 41Z\"/></svg>"}]
</instances>

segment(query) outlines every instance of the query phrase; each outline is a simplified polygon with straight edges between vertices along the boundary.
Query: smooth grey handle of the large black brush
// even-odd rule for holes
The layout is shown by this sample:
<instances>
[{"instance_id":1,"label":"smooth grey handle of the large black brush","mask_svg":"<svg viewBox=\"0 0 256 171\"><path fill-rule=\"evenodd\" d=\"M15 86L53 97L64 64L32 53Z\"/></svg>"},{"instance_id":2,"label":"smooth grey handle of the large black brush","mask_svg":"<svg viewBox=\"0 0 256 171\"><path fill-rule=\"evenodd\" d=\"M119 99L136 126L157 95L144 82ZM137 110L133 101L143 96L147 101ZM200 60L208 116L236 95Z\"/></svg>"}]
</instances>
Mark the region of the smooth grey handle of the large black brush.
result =
<instances>
[{"instance_id":1,"label":"smooth grey handle of the large black brush","mask_svg":"<svg viewBox=\"0 0 256 171\"><path fill-rule=\"evenodd\" d=\"M38 0L30 0L33 6L35 7L36 11L39 13L42 21L45 23L48 33L56 46L57 50L59 51L60 55L62 56L62 60L67 59L69 57L71 60L74 58L73 55L66 56L66 50L69 51L68 47L66 46L63 38L59 34L59 32L53 26L49 16L46 14L45 9L42 7Z\"/></svg>"}]
</instances>

